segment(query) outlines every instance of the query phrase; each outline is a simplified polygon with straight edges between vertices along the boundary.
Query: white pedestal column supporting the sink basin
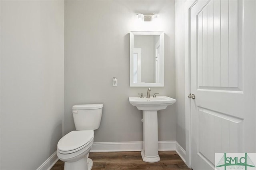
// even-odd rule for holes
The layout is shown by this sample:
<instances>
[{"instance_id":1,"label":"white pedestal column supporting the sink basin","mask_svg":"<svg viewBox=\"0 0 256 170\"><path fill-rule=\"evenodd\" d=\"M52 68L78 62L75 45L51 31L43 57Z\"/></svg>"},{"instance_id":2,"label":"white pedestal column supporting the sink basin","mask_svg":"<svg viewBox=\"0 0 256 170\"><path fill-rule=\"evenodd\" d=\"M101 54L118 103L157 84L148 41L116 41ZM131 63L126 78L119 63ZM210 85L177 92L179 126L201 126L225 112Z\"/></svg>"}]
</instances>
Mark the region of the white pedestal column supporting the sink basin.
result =
<instances>
[{"instance_id":1,"label":"white pedestal column supporting the sink basin","mask_svg":"<svg viewBox=\"0 0 256 170\"><path fill-rule=\"evenodd\" d=\"M158 162L158 123L157 110L143 110L143 149L144 162Z\"/></svg>"}]
</instances>

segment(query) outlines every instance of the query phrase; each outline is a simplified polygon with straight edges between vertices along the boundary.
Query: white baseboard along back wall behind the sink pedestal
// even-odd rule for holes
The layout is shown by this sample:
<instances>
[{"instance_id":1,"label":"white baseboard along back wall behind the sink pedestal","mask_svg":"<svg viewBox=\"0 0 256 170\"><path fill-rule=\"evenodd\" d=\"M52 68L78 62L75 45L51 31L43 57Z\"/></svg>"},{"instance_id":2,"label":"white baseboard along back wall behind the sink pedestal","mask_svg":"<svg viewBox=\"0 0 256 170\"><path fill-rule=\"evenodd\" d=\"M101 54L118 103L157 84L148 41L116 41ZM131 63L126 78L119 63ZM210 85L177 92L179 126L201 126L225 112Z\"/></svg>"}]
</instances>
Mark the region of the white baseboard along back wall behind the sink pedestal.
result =
<instances>
[{"instance_id":1,"label":"white baseboard along back wall behind the sink pedestal","mask_svg":"<svg viewBox=\"0 0 256 170\"><path fill-rule=\"evenodd\" d=\"M176 141L158 141L158 150L175 150ZM141 151L142 141L138 142L94 142L90 152Z\"/></svg>"}]
</instances>

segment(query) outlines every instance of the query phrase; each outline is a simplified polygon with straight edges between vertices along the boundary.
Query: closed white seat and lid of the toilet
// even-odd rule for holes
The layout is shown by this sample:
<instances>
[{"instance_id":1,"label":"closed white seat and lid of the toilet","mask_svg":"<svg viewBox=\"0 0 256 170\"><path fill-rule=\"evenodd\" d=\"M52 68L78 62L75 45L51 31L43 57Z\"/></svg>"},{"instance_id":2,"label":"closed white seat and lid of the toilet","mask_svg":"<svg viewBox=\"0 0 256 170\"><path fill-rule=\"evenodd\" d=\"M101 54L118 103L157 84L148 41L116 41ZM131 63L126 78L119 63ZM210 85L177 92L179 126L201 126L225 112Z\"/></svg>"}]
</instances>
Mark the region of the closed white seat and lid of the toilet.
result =
<instances>
[{"instance_id":1,"label":"closed white seat and lid of the toilet","mask_svg":"<svg viewBox=\"0 0 256 170\"><path fill-rule=\"evenodd\" d=\"M94 138L93 130L74 130L63 136L58 142L58 152L61 154L71 154L83 149Z\"/></svg>"}]
</instances>

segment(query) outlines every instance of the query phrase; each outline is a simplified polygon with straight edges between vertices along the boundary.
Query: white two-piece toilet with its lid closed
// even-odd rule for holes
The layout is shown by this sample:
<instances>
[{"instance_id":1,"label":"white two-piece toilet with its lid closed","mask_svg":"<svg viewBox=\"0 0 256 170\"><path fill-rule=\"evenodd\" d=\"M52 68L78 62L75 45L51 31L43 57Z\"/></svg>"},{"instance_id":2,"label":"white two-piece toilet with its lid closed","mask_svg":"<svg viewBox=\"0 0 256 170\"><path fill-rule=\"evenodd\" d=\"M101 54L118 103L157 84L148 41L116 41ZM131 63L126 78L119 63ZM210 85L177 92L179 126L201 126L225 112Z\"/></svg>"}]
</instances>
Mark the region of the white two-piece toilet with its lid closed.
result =
<instances>
[{"instance_id":1,"label":"white two-piece toilet with its lid closed","mask_svg":"<svg viewBox=\"0 0 256 170\"><path fill-rule=\"evenodd\" d=\"M57 145L57 156L65 162L64 170L91 170L88 158L94 130L100 127L103 104L80 104L72 107L76 130L63 136Z\"/></svg>"}]
</instances>

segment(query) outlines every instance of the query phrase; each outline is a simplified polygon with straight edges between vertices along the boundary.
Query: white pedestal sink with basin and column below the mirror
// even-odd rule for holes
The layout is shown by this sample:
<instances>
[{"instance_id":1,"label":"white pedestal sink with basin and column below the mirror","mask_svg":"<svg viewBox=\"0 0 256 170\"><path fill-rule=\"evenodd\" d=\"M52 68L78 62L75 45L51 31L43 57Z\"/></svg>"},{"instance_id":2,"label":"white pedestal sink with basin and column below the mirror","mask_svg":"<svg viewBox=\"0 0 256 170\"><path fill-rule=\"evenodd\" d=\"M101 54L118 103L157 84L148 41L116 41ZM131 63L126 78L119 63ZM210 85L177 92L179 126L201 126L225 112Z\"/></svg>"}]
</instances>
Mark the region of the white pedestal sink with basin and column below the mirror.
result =
<instances>
[{"instance_id":1,"label":"white pedestal sink with basin and column below the mirror","mask_svg":"<svg viewBox=\"0 0 256 170\"><path fill-rule=\"evenodd\" d=\"M143 114L143 148L141 156L144 162L158 162L158 124L157 111L166 109L176 102L175 99L167 96L156 98L129 97L132 106L142 110Z\"/></svg>"}]
</instances>

